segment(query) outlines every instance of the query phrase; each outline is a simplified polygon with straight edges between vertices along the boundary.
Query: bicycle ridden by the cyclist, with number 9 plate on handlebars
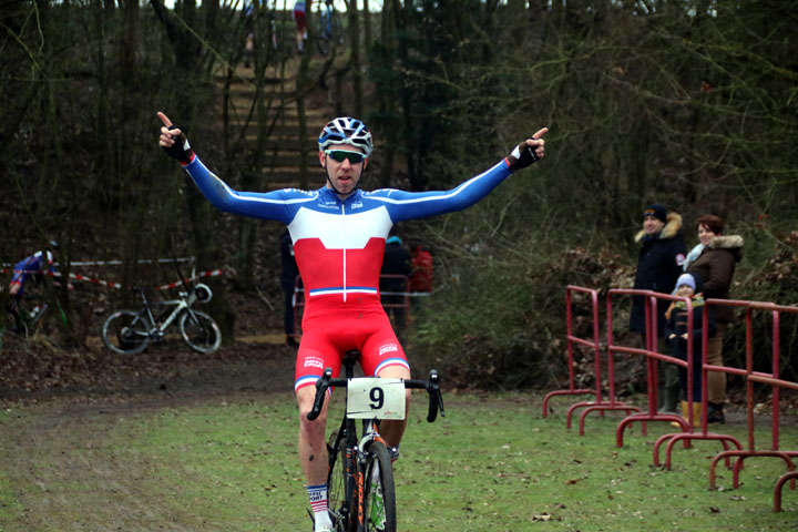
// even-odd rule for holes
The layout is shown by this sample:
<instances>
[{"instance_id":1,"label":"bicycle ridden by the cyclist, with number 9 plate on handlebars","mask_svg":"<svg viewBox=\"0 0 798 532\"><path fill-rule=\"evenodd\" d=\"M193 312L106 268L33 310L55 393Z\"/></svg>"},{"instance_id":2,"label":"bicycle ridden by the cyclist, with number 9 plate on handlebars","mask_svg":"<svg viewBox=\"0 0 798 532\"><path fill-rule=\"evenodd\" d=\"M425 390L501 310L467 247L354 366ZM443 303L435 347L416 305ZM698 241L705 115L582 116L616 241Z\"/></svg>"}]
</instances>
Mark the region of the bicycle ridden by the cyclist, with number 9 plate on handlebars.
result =
<instances>
[{"instance_id":1,"label":"bicycle ridden by the cyclist, with number 9 plate on handlebars","mask_svg":"<svg viewBox=\"0 0 798 532\"><path fill-rule=\"evenodd\" d=\"M340 427L330 433L327 450L329 513L336 532L396 532L397 508L393 469L388 444L379 433L380 419L405 418L405 389L424 389L429 395L427 421L446 416L438 372L428 380L354 378L358 351L344 357L346 378L332 378L326 368L316 381L316 398L309 420L321 412L329 387L344 387L346 409ZM362 420L358 439L356 420Z\"/></svg>"}]
</instances>

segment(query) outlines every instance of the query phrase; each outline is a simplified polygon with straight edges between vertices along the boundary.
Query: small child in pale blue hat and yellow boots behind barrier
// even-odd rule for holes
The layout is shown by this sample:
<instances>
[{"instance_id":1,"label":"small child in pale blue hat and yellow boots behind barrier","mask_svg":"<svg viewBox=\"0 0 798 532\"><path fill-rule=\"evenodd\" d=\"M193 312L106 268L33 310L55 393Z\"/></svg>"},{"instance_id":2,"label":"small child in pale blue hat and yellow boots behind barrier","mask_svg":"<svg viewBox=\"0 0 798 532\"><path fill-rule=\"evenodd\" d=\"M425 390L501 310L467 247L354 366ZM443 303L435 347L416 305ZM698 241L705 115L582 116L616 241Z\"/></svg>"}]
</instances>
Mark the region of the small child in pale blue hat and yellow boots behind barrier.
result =
<instances>
[{"instance_id":1,"label":"small child in pale blue hat and yellow boots behind barrier","mask_svg":"<svg viewBox=\"0 0 798 532\"><path fill-rule=\"evenodd\" d=\"M693 397L693 427L700 427L702 415L702 345L704 335L704 297L702 295L703 283L700 277L693 274L682 274L676 280L675 296L690 299L693 307L693 331L688 334L687 327L687 304L684 300L673 301L665 311L665 338L671 344L671 356L687 360L688 341L693 342L693 390L687 389L687 368L678 367L679 383L685 400L682 401L682 416L689 420L688 393ZM715 320L709 316L707 320L707 334L715 336ZM677 424L677 423L674 423Z\"/></svg>"}]
</instances>

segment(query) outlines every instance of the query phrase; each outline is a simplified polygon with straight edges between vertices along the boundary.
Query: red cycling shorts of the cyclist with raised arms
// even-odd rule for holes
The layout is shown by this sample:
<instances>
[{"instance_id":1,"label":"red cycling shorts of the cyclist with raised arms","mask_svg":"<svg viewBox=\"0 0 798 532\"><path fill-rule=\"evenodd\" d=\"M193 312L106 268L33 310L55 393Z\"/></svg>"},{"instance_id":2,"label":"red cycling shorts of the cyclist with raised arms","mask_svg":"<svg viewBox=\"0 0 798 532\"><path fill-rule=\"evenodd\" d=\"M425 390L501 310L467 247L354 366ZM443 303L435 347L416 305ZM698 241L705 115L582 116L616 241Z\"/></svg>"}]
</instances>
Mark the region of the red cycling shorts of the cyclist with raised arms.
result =
<instances>
[{"instance_id":1,"label":"red cycling shorts of the cyclist with raised arms","mask_svg":"<svg viewBox=\"0 0 798 532\"><path fill-rule=\"evenodd\" d=\"M410 370L378 296L350 294L348 304L341 303L340 295L316 297L319 300L311 301L303 316L295 390L315 385L325 368L338 377L344 355L355 349L360 351L360 367L367 377L391 366Z\"/></svg>"}]
</instances>

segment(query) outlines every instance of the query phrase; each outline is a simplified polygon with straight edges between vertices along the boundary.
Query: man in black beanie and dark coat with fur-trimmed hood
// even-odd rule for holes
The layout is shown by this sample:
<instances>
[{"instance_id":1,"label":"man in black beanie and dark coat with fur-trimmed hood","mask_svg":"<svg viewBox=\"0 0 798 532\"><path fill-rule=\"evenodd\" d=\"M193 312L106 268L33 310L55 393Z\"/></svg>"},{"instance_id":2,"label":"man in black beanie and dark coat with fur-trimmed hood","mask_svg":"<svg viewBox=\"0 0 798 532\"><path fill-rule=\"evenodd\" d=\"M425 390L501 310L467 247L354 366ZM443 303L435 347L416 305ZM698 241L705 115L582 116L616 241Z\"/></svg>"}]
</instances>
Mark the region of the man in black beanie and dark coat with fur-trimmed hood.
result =
<instances>
[{"instance_id":1,"label":"man in black beanie and dark coat with fur-trimmed hood","mask_svg":"<svg viewBox=\"0 0 798 532\"><path fill-rule=\"evenodd\" d=\"M652 203L643 209L643 228L635 235L640 246L634 288L671 294L676 279L683 272L687 246L682 234L682 216L658 204ZM657 350L665 352L664 341L665 307L657 305ZM646 346L645 300L643 296L633 296L630 330L637 332L641 346ZM675 412L682 392L678 368L673 364L662 364L659 374L658 405L662 411Z\"/></svg>"}]
</instances>

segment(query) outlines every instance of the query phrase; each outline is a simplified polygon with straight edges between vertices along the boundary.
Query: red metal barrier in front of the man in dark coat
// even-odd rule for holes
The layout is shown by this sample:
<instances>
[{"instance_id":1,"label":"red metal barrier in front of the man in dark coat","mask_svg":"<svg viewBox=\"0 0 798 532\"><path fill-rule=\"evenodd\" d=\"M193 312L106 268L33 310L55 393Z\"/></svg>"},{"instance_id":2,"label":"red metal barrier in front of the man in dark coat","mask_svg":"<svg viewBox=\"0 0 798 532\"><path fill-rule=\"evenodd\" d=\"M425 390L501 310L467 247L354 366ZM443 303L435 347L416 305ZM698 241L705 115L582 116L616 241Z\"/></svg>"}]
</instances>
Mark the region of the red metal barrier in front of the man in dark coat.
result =
<instances>
[{"instance_id":1,"label":"red metal barrier in front of the man in dark coat","mask_svg":"<svg viewBox=\"0 0 798 532\"><path fill-rule=\"evenodd\" d=\"M613 296L615 295L627 295L627 296L643 296L644 297L644 309L645 309L645 324L646 324L646 347L645 349L640 349L636 347L626 347L626 346L616 346L613 344ZM685 421L681 416L677 416L675 413L659 413L657 411L657 396L658 396L658 361L663 360L665 362L676 364L679 366L686 366L687 362L685 360L681 360L678 358L669 357L667 355L663 355L661 352L657 352L657 319L654 319L654 317L657 316L657 298L663 299L683 299L679 297L671 296L667 294L659 294L657 291L651 291L651 290L635 290L635 289L625 289L625 288L613 288L607 293L607 355L610 356L610 360L612 360L613 355L615 352L626 352L631 355L644 355L646 357L646 369L647 369L647 395L648 395L648 411L647 412L637 412L633 413L631 416L625 417L617 426L617 429L615 430L615 444L617 447L623 447L623 433L626 427L630 426L630 423L633 423L635 421L642 422L642 433L643 436L646 436L646 422L647 421L667 421L667 422L676 422L679 426L682 426L683 430L686 432L690 429L690 427L687 426L687 421ZM688 316L689 321L688 326L692 326L693 324L693 307L688 304ZM692 347L689 348L692 351ZM688 371L692 371L692 369L688 367ZM685 447L687 447L689 443L686 441Z\"/></svg>"}]
</instances>

